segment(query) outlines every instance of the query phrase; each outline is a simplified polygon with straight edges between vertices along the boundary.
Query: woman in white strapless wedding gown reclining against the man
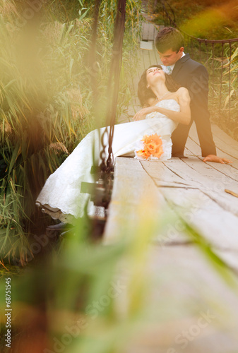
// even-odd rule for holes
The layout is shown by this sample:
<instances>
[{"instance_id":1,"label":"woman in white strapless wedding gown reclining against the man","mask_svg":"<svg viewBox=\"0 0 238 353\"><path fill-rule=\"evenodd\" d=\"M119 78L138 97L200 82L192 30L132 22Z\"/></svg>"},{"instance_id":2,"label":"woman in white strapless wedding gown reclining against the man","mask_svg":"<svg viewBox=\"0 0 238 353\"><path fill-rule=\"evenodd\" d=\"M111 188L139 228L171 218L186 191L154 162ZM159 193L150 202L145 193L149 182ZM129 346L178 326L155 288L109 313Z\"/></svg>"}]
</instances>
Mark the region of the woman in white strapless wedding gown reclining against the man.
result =
<instances>
[{"instance_id":1,"label":"woman in white strapless wedding gown reclining against the man","mask_svg":"<svg viewBox=\"0 0 238 353\"><path fill-rule=\"evenodd\" d=\"M189 92L186 88L177 88L160 65L150 66L143 72L138 83L138 97L143 109L133 116L133 121L114 127L114 157L134 157L136 143L145 135L157 133L163 140L161 160L171 158L174 128L178 123L189 124L191 120ZM81 193L81 183L94 182L90 169L93 155L95 161L99 161L100 138L104 131L105 128L100 128L88 133L49 176L36 201L43 212L64 223L73 223L75 218L83 216L89 194Z\"/></svg>"}]
</instances>

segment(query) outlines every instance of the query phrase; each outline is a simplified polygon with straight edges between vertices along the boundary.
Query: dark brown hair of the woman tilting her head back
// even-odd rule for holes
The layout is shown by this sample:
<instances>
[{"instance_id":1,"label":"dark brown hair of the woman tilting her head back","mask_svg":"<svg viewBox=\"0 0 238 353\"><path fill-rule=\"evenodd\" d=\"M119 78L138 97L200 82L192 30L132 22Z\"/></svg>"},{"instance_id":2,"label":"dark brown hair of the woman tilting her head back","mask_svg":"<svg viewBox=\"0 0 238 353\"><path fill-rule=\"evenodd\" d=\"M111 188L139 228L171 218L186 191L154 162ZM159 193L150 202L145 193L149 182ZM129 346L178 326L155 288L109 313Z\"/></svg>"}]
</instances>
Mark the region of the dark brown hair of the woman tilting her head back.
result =
<instances>
[{"instance_id":1,"label":"dark brown hair of the woman tilting her head back","mask_svg":"<svg viewBox=\"0 0 238 353\"><path fill-rule=\"evenodd\" d=\"M149 106L148 100L150 98L156 98L153 90L151 90L150 87L147 88L148 82L146 79L146 73L147 73L147 70L151 67L158 67L158 68L161 68L162 70L162 66L160 65L157 65L157 64L151 65L141 75L141 79L139 80L139 83L138 83L138 98L141 102L142 107ZM181 87L172 79L170 75L167 75L167 73L165 73L165 85L170 92L176 92L179 89L179 87Z\"/></svg>"}]
</instances>

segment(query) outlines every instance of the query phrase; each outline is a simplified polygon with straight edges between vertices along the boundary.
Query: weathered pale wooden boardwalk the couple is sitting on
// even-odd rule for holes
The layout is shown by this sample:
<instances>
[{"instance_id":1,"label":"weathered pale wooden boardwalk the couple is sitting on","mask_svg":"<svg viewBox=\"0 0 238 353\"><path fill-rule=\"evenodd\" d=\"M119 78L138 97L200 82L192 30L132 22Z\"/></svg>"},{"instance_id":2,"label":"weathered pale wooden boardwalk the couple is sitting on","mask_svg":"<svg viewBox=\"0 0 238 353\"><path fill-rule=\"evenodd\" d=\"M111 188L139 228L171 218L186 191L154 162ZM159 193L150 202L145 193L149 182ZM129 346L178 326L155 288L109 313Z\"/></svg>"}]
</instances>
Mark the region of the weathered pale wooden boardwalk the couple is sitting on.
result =
<instances>
[{"instance_id":1,"label":"weathered pale wooden boardwalk the couple is sitting on","mask_svg":"<svg viewBox=\"0 0 238 353\"><path fill-rule=\"evenodd\" d=\"M152 54L142 56L150 61ZM232 164L202 161L195 126L186 159L116 159L105 244L135 229L146 233L156 220L146 248L153 315L125 353L238 352L238 198L225 191L238 194L238 142L212 129L218 155ZM223 265L211 265L205 254Z\"/></svg>"}]
</instances>

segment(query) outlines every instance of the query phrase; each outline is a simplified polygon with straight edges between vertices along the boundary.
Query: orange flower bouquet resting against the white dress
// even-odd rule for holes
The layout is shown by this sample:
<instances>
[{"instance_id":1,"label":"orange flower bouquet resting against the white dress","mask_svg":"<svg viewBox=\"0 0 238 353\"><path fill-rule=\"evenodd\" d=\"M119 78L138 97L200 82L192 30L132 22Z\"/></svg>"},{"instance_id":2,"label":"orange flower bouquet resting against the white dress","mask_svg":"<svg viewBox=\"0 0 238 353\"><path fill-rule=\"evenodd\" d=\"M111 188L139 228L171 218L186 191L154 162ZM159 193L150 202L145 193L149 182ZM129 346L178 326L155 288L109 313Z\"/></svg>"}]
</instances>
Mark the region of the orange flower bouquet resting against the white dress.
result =
<instances>
[{"instance_id":1,"label":"orange flower bouquet resting against the white dress","mask_svg":"<svg viewBox=\"0 0 238 353\"><path fill-rule=\"evenodd\" d=\"M136 157L141 160L157 160L161 157L164 150L162 148L162 139L154 135L145 135L141 140L143 142L143 148L141 150L135 151Z\"/></svg>"}]
</instances>

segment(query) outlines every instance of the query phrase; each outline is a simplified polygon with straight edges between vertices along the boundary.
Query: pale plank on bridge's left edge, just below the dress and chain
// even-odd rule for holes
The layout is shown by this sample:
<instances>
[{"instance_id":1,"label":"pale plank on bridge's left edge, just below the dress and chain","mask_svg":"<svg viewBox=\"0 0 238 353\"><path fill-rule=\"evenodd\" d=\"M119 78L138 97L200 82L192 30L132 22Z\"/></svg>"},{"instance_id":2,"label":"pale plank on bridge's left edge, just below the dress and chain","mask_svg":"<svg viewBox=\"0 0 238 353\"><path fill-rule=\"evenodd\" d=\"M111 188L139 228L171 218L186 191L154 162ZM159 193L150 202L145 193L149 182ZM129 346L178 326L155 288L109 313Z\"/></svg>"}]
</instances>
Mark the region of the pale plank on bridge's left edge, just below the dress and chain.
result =
<instances>
[{"instance_id":1,"label":"pale plank on bridge's left edge, just below the dress and chain","mask_svg":"<svg viewBox=\"0 0 238 353\"><path fill-rule=\"evenodd\" d=\"M160 217L161 194L139 160L117 157L112 201L105 226L104 242L109 244L133 234L135 226ZM149 218L148 218L149 217Z\"/></svg>"}]
</instances>

